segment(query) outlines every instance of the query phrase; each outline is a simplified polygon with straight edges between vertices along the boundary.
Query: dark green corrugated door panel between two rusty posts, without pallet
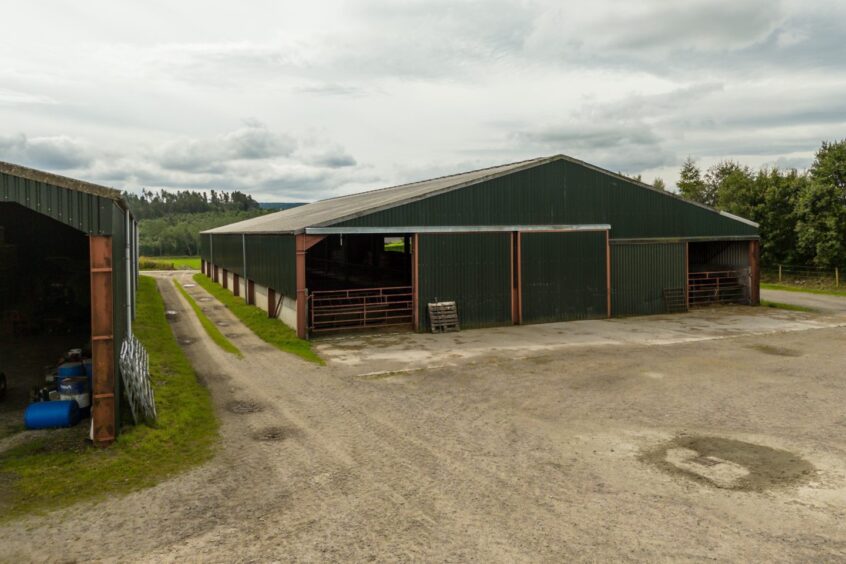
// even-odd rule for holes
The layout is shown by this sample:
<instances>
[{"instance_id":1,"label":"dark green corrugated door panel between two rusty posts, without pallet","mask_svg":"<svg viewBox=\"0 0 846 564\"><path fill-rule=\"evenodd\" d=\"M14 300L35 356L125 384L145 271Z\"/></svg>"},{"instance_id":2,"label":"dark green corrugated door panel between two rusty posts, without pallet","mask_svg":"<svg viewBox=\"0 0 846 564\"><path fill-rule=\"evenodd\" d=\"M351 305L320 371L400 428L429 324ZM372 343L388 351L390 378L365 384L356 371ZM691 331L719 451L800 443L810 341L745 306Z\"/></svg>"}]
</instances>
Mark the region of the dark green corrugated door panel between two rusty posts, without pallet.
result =
<instances>
[{"instance_id":1,"label":"dark green corrugated door panel between two rusty posts, without pallet","mask_svg":"<svg viewBox=\"0 0 846 564\"><path fill-rule=\"evenodd\" d=\"M523 233L523 323L608 315L605 232Z\"/></svg>"}]
</instances>

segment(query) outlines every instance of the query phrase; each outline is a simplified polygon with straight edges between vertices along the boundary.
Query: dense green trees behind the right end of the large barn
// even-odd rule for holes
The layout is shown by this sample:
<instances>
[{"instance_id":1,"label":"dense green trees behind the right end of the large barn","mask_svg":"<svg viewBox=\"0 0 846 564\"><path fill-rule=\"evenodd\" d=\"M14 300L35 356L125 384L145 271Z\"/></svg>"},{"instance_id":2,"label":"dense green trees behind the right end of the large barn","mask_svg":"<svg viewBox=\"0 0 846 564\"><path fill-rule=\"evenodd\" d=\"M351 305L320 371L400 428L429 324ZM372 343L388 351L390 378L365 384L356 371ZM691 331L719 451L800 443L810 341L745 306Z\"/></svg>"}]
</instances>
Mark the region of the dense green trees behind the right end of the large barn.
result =
<instances>
[{"instance_id":1,"label":"dense green trees behind the right end of the large barn","mask_svg":"<svg viewBox=\"0 0 846 564\"><path fill-rule=\"evenodd\" d=\"M760 225L764 264L846 265L846 140L823 142L807 171L719 162L704 173L688 158L681 196Z\"/></svg>"}]
</instances>

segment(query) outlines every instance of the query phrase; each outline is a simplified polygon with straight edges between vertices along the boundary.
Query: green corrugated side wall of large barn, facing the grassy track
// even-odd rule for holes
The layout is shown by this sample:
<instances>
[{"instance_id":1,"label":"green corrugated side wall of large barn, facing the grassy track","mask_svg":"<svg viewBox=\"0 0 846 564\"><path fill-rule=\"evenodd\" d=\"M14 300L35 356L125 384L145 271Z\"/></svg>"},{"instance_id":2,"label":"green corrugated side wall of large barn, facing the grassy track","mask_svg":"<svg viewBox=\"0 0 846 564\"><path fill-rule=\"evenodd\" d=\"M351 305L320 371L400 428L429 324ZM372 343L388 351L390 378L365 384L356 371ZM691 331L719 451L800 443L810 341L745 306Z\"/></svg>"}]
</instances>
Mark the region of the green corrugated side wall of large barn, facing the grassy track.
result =
<instances>
[{"instance_id":1,"label":"green corrugated side wall of large barn, facing the grassy track","mask_svg":"<svg viewBox=\"0 0 846 564\"><path fill-rule=\"evenodd\" d=\"M297 293L297 253L293 235L200 235L200 257L282 295ZM247 252L247 271L244 255Z\"/></svg>"}]
</instances>

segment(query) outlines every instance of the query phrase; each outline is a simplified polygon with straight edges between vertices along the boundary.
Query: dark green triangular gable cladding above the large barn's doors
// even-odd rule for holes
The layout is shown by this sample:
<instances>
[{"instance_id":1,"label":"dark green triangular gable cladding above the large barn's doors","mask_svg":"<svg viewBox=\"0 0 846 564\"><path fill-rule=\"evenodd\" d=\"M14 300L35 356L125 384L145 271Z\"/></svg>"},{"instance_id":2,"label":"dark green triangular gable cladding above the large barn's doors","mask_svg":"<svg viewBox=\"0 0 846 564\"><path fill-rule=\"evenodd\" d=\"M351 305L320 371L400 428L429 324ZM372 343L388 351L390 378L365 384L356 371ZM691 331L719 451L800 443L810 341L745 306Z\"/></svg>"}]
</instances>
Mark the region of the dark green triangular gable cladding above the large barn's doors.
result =
<instances>
[{"instance_id":1,"label":"dark green triangular gable cladding above the large barn's doors","mask_svg":"<svg viewBox=\"0 0 846 564\"><path fill-rule=\"evenodd\" d=\"M338 226L602 223L612 238L752 236L717 212L569 161L338 223Z\"/></svg>"}]
</instances>

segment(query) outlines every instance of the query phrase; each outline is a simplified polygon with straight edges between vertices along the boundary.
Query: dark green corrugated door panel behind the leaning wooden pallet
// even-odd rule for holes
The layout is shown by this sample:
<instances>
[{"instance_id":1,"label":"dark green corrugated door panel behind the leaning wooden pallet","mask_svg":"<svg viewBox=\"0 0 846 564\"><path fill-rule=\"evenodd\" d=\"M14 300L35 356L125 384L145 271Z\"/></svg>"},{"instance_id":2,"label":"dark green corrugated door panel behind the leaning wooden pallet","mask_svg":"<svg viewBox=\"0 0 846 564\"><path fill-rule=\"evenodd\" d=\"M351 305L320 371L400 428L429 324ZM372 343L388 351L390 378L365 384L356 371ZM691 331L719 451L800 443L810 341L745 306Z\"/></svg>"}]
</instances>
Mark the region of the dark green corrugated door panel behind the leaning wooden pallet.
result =
<instances>
[{"instance_id":1,"label":"dark green corrugated door panel behind the leaning wooden pallet","mask_svg":"<svg viewBox=\"0 0 846 564\"><path fill-rule=\"evenodd\" d=\"M435 301L455 301L462 328L511 323L510 233L422 234L419 247L420 330Z\"/></svg>"}]
</instances>

